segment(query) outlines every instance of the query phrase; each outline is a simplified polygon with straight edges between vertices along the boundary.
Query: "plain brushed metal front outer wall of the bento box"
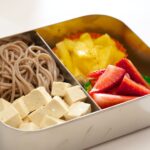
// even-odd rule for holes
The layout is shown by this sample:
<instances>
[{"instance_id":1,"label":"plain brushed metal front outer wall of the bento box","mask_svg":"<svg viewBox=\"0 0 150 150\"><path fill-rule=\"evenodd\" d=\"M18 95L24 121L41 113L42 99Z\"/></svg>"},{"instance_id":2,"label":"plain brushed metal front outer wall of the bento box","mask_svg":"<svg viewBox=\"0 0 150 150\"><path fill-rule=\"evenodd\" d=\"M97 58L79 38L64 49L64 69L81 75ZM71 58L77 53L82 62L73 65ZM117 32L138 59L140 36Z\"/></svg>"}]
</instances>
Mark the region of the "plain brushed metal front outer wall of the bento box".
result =
<instances>
[{"instance_id":1,"label":"plain brushed metal front outer wall of the bento box","mask_svg":"<svg viewBox=\"0 0 150 150\"><path fill-rule=\"evenodd\" d=\"M150 125L150 95L41 131L0 123L1 150L80 150Z\"/></svg>"}]
</instances>

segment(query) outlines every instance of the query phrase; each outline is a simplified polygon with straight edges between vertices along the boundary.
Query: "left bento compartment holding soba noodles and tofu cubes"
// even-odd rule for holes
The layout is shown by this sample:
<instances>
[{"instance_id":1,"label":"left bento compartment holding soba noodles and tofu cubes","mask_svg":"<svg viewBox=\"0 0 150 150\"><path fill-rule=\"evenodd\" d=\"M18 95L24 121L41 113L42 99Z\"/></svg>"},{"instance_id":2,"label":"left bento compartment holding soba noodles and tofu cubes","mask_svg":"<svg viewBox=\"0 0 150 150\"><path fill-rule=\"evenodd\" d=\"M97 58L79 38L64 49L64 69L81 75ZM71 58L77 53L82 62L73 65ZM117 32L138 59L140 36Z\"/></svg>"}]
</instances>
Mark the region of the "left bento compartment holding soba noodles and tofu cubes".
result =
<instances>
[{"instance_id":1,"label":"left bento compartment holding soba noodles and tofu cubes","mask_svg":"<svg viewBox=\"0 0 150 150\"><path fill-rule=\"evenodd\" d=\"M2 123L34 131L98 110L49 52L35 32L0 40Z\"/></svg>"}]
</instances>

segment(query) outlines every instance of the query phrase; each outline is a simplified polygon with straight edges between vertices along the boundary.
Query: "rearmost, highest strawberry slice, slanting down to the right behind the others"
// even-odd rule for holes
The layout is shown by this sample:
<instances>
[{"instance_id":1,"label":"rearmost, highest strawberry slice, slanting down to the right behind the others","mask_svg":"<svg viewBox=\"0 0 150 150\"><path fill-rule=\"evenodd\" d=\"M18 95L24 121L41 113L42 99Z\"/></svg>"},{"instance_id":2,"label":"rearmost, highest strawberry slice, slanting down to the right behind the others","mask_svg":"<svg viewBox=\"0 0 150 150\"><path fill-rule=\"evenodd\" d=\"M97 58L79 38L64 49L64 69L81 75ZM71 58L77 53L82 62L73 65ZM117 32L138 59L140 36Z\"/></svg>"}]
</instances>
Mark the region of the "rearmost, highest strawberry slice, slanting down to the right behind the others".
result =
<instances>
[{"instance_id":1,"label":"rearmost, highest strawberry slice, slanting down to the right behind the others","mask_svg":"<svg viewBox=\"0 0 150 150\"><path fill-rule=\"evenodd\" d=\"M136 67L133 65L133 63L129 59L127 59L127 58L121 59L116 64L116 66L125 69L126 72L130 75L132 80L149 88L149 85L147 84L147 82L143 79L140 72L136 69Z\"/></svg>"}]
</instances>

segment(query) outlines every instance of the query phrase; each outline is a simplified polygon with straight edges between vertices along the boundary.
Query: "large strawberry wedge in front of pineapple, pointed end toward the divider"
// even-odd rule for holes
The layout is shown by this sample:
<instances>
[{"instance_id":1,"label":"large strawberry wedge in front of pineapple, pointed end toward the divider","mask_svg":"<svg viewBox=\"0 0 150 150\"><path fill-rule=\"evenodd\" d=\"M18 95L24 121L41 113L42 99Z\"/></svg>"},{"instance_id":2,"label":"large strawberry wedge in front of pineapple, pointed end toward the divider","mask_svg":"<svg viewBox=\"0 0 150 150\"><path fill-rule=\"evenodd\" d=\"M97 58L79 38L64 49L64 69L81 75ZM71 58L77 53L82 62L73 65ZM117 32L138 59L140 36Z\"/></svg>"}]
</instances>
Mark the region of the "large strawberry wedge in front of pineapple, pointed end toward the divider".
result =
<instances>
[{"instance_id":1,"label":"large strawberry wedge in front of pineapple, pointed end toward the divider","mask_svg":"<svg viewBox=\"0 0 150 150\"><path fill-rule=\"evenodd\" d=\"M125 70L113 65L108 65L106 71L98 78L90 94L106 92L119 84L123 79Z\"/></svg>"}]
</instances>

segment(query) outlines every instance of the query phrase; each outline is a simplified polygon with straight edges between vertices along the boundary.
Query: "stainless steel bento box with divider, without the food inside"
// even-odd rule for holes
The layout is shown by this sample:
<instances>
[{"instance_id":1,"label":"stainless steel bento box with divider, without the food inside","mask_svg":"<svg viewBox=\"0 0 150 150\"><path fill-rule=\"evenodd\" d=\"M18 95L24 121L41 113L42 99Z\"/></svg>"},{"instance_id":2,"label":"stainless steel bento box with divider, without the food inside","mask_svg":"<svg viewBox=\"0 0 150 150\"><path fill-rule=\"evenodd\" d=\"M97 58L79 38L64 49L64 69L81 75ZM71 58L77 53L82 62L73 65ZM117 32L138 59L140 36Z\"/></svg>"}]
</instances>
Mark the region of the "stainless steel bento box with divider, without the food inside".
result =
<instances>
[{"instance_id":1,"label":"stainless steel bento box with divider, without the food inside","mask_svg":"<svg viewBox=\"0 0 150 150\"><path fill-rule=\"evenodd\" d=\"M129 58L140 71L150 75L150 49L124 23L104 15L91 15L30 31L38 45L44 46L55 59L65 80L78 81L52 52L56 42L79 31L108 33L128 49ZM49 47L49 46L50 47ZM83 89L84 90L84 89ZM88 96L88 94L87 94ZM106 142L150 125L150 95L102 110L88 96L93 112L39 131L24 132L0 122L0 150L79 150Z\"/></svg>"}]
</instances>

